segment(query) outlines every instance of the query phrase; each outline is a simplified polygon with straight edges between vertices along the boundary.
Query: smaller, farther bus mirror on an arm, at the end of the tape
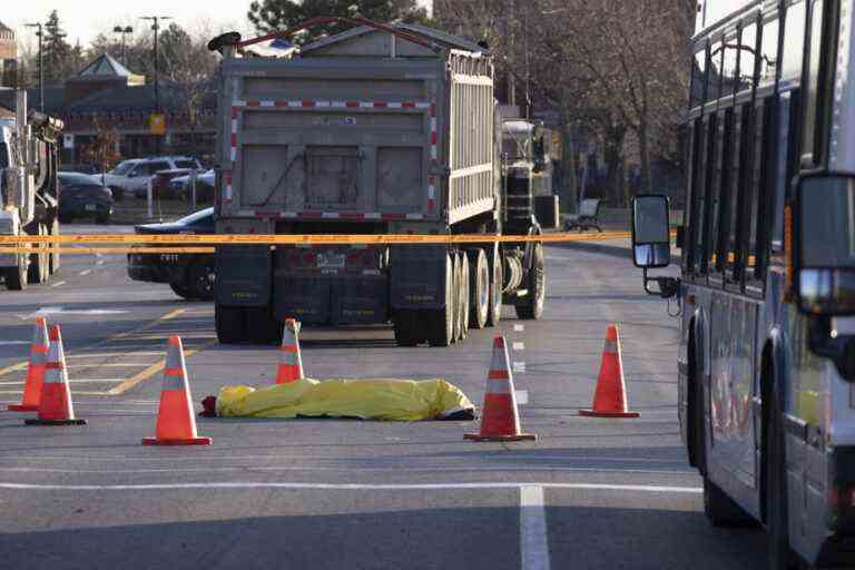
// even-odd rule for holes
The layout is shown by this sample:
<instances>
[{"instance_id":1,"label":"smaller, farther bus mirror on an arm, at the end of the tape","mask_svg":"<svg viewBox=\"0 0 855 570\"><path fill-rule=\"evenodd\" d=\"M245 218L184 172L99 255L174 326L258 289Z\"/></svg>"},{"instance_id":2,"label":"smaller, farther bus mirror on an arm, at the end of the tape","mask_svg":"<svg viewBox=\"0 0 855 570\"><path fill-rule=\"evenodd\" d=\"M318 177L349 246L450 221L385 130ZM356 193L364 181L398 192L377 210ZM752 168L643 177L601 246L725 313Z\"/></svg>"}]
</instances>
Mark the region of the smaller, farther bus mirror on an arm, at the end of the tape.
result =
<instances>
[{"instance_id":1,"label":"smaller, farther bus mirror on an arm, at the end of the tape","mask_svg":"<svg viewBox=\"0 0 855 570\"><path fill-rule=\"evenodd\" d=\"M645 194L632 198L632 263L645 271L645 291L664 298L675 296L679 282L672 277L648 277L648 269L671 264L670 207L666 196ZM651 291L656 283L659 291Z\"/></svg>"}]
</instances>

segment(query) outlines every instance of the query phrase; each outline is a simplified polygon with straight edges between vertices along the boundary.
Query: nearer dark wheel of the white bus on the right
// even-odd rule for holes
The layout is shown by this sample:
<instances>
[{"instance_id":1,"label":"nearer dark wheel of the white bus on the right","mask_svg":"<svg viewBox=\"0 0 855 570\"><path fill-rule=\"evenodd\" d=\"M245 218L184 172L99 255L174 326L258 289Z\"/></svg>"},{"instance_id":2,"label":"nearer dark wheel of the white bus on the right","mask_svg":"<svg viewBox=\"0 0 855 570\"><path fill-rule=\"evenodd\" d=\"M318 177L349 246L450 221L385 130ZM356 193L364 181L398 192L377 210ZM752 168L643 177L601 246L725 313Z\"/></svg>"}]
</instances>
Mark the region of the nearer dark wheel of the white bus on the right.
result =
<instances>
[{"instance_id":1,"label":"nearer dark wheel of the white bus on the right","mask_svg":"<svg viewBox=\"0 0 855 570\"><path fill-rule=\"evenodd\" d=\"M765 425L766 443L766 538L768 541L768 570L799 568L797 554L789 548L789 518L787 512L787 470L784 426L778 395L770 394L769 413ZM764 402L765 404L765 402Z\"/></svg>"}]
</instances>

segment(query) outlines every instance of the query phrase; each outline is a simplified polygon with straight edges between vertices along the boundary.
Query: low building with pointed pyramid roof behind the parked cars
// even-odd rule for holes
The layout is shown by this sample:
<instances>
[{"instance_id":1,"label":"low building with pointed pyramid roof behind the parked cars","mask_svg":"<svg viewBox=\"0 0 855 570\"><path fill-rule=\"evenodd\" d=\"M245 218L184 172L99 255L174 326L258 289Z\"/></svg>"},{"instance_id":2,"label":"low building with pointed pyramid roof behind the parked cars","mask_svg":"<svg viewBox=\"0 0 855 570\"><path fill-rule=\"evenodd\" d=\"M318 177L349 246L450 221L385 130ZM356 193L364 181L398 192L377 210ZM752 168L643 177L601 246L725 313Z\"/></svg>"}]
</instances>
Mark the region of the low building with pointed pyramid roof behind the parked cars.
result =
<instances>
[{"instance_id":1,"label":"low building with pointed pyramid roof behind the parked cars","mask_svg":"<svg viewBox=\"0 0 855 570\"><path fill-rule=\"evenodd\" d=\"M38 106L38 89L30 89L30 108ZM0 106L14 107L14 95L0 90ZM149 128L156 110L166 117L166 134ZM63 164L87 161L87 147L99 132L112 132L121 158L157 154L214 154L216 92L213 83L183 86L146 78L102 53L65 83L45 87L45 111L66 124Z\"/></svg>"}]
</instances>

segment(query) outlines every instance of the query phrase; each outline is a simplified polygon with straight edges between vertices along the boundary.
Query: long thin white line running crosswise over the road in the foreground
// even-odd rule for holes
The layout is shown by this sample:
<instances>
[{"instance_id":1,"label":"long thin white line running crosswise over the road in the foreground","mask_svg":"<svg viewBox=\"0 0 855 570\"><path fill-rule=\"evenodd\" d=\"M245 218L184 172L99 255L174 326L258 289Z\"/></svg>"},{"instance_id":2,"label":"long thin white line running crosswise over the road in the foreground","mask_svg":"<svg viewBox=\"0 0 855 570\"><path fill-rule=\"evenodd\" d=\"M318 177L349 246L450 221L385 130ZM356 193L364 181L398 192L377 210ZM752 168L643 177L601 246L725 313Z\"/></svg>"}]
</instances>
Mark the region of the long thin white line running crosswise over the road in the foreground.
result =
<instances>
[{"instance_id":1,"label":"long thin white line running crosswise over the road in the foreground","mask_svg":"<svg viewBox=\"0 0 855 570\"><path fill-rule=\"evenodd\" d=\"M61 485L39 483L1 483L0 489L18 491L169 491L183 489L292 489L336 491L443 491L465 489L570 489L580 491L619 491L638 493L701 494L696 487L611 485L597 483L291 483L277 481L217 481L210 483L149 483L119 485Z\"/></svg>"}]
</instances>

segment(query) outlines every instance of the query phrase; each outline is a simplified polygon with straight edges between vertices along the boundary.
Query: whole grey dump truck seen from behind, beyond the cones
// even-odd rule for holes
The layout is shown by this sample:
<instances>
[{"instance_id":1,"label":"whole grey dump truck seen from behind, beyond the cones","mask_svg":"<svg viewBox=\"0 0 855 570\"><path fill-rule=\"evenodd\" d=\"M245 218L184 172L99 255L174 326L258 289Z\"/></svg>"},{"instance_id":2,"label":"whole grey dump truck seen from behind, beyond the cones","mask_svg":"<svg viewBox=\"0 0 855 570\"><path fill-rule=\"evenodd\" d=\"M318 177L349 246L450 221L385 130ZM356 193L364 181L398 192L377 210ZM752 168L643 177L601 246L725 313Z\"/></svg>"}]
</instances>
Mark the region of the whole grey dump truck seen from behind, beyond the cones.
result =
<instances>
[{"instance_id":1,"label":"whole grey dump truck seen from behind, beyond the cones","mask_svg":"<svg viewBox=\"0 0 855 570\"><path fill-rule=\"evenodd\" d=\"M348 21L355 27L279 58L253 57L252 48L296 30L246 41L230 32L209 43L223 55L217 234L472 242L220 246L219 341L277 342L293 317L391 322L401 346L448 346L469 328L495 325L503 304L540 318L542 244L494 239L542 229L533 163L502 159L490 52L421 26Z\"/></svg>"}]
</instances>

